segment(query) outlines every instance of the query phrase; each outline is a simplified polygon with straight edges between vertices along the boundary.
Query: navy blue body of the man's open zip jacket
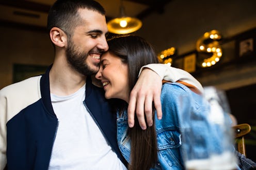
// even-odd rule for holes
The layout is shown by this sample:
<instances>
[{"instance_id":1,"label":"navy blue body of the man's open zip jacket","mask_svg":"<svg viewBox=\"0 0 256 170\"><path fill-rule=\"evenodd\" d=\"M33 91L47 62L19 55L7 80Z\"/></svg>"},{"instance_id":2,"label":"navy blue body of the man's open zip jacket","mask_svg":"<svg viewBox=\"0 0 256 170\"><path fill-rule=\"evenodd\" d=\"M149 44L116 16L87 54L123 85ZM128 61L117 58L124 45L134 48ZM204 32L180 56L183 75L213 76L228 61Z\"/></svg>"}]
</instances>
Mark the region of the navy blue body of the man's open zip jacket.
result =
<instances>
[{"instance_id":1,"label":"navy blue body of the man's open zip jacket","mask_svg":"<svg viewBox=\"0 0 256 170\"><path fill-rule=\"evenodd\" d=\"M51 67L43 75L30 78L30 81L20 82L21 84L23 83L23 86L31 86L31 81L38 81L37 84L40 84L40 88L38 88L39 94L37 95L39 97L38 100L30 102L31 104L26 107L23 106L24 108L20 112L13 115L7 121L6 155L8 169L40 170L48 169L49 167L53 143L58 130L58 119L54 114L50 97L50 69ZM17 87L19 85L14 84L12 88L16 88L14 91L23 90L17 89ZM9 91L10 89L6 90ZM33 88L30 91L28 87L24 90L27 90L23 91L23 95L27 95L24 96L24 100L29 98L31 91L36 91ZM7 99L8 97L5 97L6 103L8 103ZM22 103L23 100L16 102ZM104 98L104 90L94 86L90 78L86 80L84 105L111 148L118 155L119 159L126 164L117 144L116 115L110 111L109 103ZM8 105L6 110L8 111ZM1 166L4 167L5 165Z\"/></svg>"}]
</instances>

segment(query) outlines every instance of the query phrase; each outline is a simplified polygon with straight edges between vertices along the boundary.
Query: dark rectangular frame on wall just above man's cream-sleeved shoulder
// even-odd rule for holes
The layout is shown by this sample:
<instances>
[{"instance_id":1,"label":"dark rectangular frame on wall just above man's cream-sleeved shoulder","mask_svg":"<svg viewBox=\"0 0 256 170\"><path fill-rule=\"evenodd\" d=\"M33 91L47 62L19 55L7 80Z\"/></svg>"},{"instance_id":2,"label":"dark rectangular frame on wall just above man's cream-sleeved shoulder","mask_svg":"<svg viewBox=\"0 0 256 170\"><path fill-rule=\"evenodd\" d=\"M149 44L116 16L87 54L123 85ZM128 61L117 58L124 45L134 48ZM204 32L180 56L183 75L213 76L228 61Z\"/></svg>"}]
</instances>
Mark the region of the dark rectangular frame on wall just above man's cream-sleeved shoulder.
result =
<instances>
[{"instance_id":1,"label":"dark rectangular frame on wall just above man's cream-sleeved shoulder","mask_svg":"<svg viewBox=\"0 0 256 170\"><path fill-rule=\"evenodd\" d=\"M27 78L43 74L48 66L13 64L12 82L17 83Z\"/></svg>"}]
</instances>

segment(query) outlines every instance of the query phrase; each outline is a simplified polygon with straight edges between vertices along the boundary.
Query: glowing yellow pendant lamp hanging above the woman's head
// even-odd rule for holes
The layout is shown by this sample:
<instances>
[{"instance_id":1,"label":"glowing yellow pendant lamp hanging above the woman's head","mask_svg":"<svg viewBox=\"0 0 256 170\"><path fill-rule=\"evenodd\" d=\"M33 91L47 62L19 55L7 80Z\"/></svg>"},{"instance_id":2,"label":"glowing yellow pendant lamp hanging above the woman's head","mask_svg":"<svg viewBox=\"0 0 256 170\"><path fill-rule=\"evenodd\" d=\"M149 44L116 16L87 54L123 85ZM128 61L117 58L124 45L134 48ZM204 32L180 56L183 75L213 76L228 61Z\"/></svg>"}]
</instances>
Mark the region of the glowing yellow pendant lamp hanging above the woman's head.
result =
<instances>
[{"instance_id":1,"label":"glowing yellow pendant lamp hanging above the woman's head","mask_svg":"<svg viewBox=\"0 0 256 170\"><path fill-rule=\"evenodd\" d=\"M142 26L139 19L125 15L123 1L120 0L120 17L107 23L108 31L115 34L127 34L137 31Z\"/></svg>"}]
</instances>

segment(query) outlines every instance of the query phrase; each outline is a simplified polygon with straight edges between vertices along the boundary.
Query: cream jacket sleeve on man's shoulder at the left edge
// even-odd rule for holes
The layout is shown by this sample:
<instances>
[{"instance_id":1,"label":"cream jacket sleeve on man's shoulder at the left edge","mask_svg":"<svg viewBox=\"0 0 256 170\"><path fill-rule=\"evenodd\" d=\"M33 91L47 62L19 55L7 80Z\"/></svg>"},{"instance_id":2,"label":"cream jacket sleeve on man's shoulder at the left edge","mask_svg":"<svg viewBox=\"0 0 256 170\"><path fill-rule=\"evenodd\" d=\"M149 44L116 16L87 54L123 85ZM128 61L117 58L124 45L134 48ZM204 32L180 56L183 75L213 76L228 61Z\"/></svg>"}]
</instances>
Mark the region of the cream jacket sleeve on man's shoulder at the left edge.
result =
<instances>
[{"instance_id":1,"label":"cream jacket sleeve on man's shoulder at the left edge","mask_svg":"<svg viewBox=\"0 0 256 170\"><path fill-rule=\"evenodd\" d=\"M0 170L7 163L7 122L41 98L40 78L41 75L32 77L0 90Z\"/></svg>"}]
</instances>

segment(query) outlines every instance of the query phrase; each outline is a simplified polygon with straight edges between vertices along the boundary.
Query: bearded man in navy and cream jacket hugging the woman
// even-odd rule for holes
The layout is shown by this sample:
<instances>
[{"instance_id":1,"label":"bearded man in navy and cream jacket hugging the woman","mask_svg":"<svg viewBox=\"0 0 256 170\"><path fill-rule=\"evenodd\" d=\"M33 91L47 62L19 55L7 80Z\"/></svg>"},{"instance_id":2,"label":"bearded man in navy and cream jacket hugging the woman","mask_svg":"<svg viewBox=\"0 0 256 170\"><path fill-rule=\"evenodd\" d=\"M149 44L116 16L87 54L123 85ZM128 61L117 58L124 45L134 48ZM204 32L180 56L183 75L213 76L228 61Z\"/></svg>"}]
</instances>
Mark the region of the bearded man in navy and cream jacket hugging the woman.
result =
<instances>
[{"instance_id":1,"label":"bearded man in navy and cream jacket hugging the woman","mask_svg":"<svg viewBox=\"0 0 256 170\"><path fill-rule=\"evenodd\" d=\"M115 114L90 78L108 50L103 7L91 0L58 0L47 28L55 48L53 65L0 91L0 169L126 169ZM161 74L175 73L175 78L166 79L201 88L190 74L168 69L163 66ZM152 101L161 119L161 77L143 69L131 93L131 127L135 110L142 128L144 110L151 125Z\"/></svg>"}]
</instances>

